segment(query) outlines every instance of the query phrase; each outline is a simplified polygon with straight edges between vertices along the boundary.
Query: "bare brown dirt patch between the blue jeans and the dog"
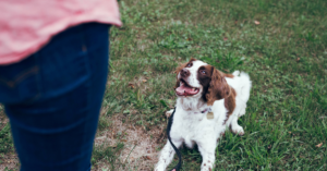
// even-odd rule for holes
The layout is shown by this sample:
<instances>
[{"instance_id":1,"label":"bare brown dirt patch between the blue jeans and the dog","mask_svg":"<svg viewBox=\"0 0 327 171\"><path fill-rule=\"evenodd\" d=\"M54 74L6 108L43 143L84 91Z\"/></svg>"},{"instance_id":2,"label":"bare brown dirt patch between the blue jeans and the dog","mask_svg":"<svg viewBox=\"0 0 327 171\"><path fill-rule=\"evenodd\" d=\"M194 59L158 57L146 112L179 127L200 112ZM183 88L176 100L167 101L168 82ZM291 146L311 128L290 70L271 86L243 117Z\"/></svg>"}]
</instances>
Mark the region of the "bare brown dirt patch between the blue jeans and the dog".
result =
<instances>
[{"instance_id":1,"label":"bare brown dirt patch between the blue jeans and the dog","mask_svg":"<svg viewBox=\"0 0 327 171\"><path fill-rule=\"evenodd\" d=\"M158 125L150 131L144 131L141 126L123 123L117 115L111 119L110 130L96 137L95 146L114 146L117 143L124 143L124 148L119 156L119 160L125 168L117 166L116 170L138 170L150 171L158 161L159 150L166 139L165 125ZM120 136L120 137L118 137ZM161 149L161 148L160 148ZM110 163L104 161L97 163L92 171L110 170ZM129 168L129 169L126 169Z\"/></svg>"}]
</instances>

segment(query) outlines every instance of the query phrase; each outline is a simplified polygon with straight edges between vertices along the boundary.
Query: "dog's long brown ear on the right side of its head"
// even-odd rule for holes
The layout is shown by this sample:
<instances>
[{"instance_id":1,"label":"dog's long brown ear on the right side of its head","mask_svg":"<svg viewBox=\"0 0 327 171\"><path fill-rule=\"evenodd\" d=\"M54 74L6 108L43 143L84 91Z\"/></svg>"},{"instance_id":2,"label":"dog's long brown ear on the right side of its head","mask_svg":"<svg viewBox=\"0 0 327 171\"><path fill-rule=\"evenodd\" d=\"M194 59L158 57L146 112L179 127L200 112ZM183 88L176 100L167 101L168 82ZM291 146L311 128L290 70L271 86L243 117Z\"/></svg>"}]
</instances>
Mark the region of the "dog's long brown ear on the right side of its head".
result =
<instances>
[{"instance_id":1,"label":"dog's long brown ear on the right side of its head","mask_svg":"<svg viewBox=\"0 0 327 171\"><path fill-rule=\"evenodd\" d=\"M223 99L230 94L230 87L226 82L223 73L213 68L211 82L206 94L207 103L214 105L216 100Z\"/></svg>"}]
</instances>

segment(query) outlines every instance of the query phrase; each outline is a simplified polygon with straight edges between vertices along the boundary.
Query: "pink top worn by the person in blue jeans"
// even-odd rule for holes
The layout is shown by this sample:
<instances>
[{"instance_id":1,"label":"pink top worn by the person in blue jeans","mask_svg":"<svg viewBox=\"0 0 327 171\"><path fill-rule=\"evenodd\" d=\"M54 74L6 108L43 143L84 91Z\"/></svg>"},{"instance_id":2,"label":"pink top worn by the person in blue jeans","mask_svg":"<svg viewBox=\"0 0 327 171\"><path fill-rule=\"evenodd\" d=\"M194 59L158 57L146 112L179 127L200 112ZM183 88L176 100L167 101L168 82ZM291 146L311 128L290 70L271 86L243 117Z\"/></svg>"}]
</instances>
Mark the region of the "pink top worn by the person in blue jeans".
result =
<instances>
[{"instance_id":1,"label":"pink top worn by the person in blue jeans","mask_svg":"<svg viewBox=\"0 0 327 171\"><path fill-rule=\"evenodd\" d=\"M0 0L0 65L19 62L81 23L121 26L116 0Z\"/></svg>"}]
</instances>

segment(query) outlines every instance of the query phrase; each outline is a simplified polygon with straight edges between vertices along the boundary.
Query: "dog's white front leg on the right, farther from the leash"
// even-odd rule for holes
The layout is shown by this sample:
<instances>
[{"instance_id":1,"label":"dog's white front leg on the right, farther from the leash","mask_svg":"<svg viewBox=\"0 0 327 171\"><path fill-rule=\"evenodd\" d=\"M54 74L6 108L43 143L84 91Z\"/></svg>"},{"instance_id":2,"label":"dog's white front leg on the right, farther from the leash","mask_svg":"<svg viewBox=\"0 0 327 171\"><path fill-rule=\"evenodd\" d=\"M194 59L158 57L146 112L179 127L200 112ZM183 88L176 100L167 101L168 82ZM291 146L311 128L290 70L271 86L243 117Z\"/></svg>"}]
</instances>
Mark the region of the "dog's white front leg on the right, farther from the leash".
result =
<instances>
[{"instance_id":1,"label":"dog's white front leg on the right, farther from the leash","mask_svg":"<svg viewBox=\"0 0 327 171\"><path fill-rule=\"evenodd\" d=\"M203 139L197 143L202 155L201 171L211 171L215 164L216 141L214 138Z\"/></svg>"}]
</instances>

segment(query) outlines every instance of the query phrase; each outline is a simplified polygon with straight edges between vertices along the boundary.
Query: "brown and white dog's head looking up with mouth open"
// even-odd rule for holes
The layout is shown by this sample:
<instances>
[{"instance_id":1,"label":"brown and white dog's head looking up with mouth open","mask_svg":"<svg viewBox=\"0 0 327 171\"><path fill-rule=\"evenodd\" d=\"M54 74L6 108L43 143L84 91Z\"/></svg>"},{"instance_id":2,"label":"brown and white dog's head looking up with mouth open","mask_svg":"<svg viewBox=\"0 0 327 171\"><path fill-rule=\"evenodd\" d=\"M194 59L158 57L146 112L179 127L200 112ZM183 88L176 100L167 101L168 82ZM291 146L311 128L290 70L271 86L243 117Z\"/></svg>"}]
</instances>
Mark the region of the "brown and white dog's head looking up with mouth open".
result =
<instances>
[{"instance_id":1,"label":"brown and white dog's head looking up with mouth open","mask_svg":"<svg viewBox=\"0 0 327 171\"><path fill-rule=\"evenodd\" d=\"M225 74L203 61L192 58L181 64L175 73L175 94L181 98L202 98L210 106L230 94Z\"/></svg>"}]
</instances>

